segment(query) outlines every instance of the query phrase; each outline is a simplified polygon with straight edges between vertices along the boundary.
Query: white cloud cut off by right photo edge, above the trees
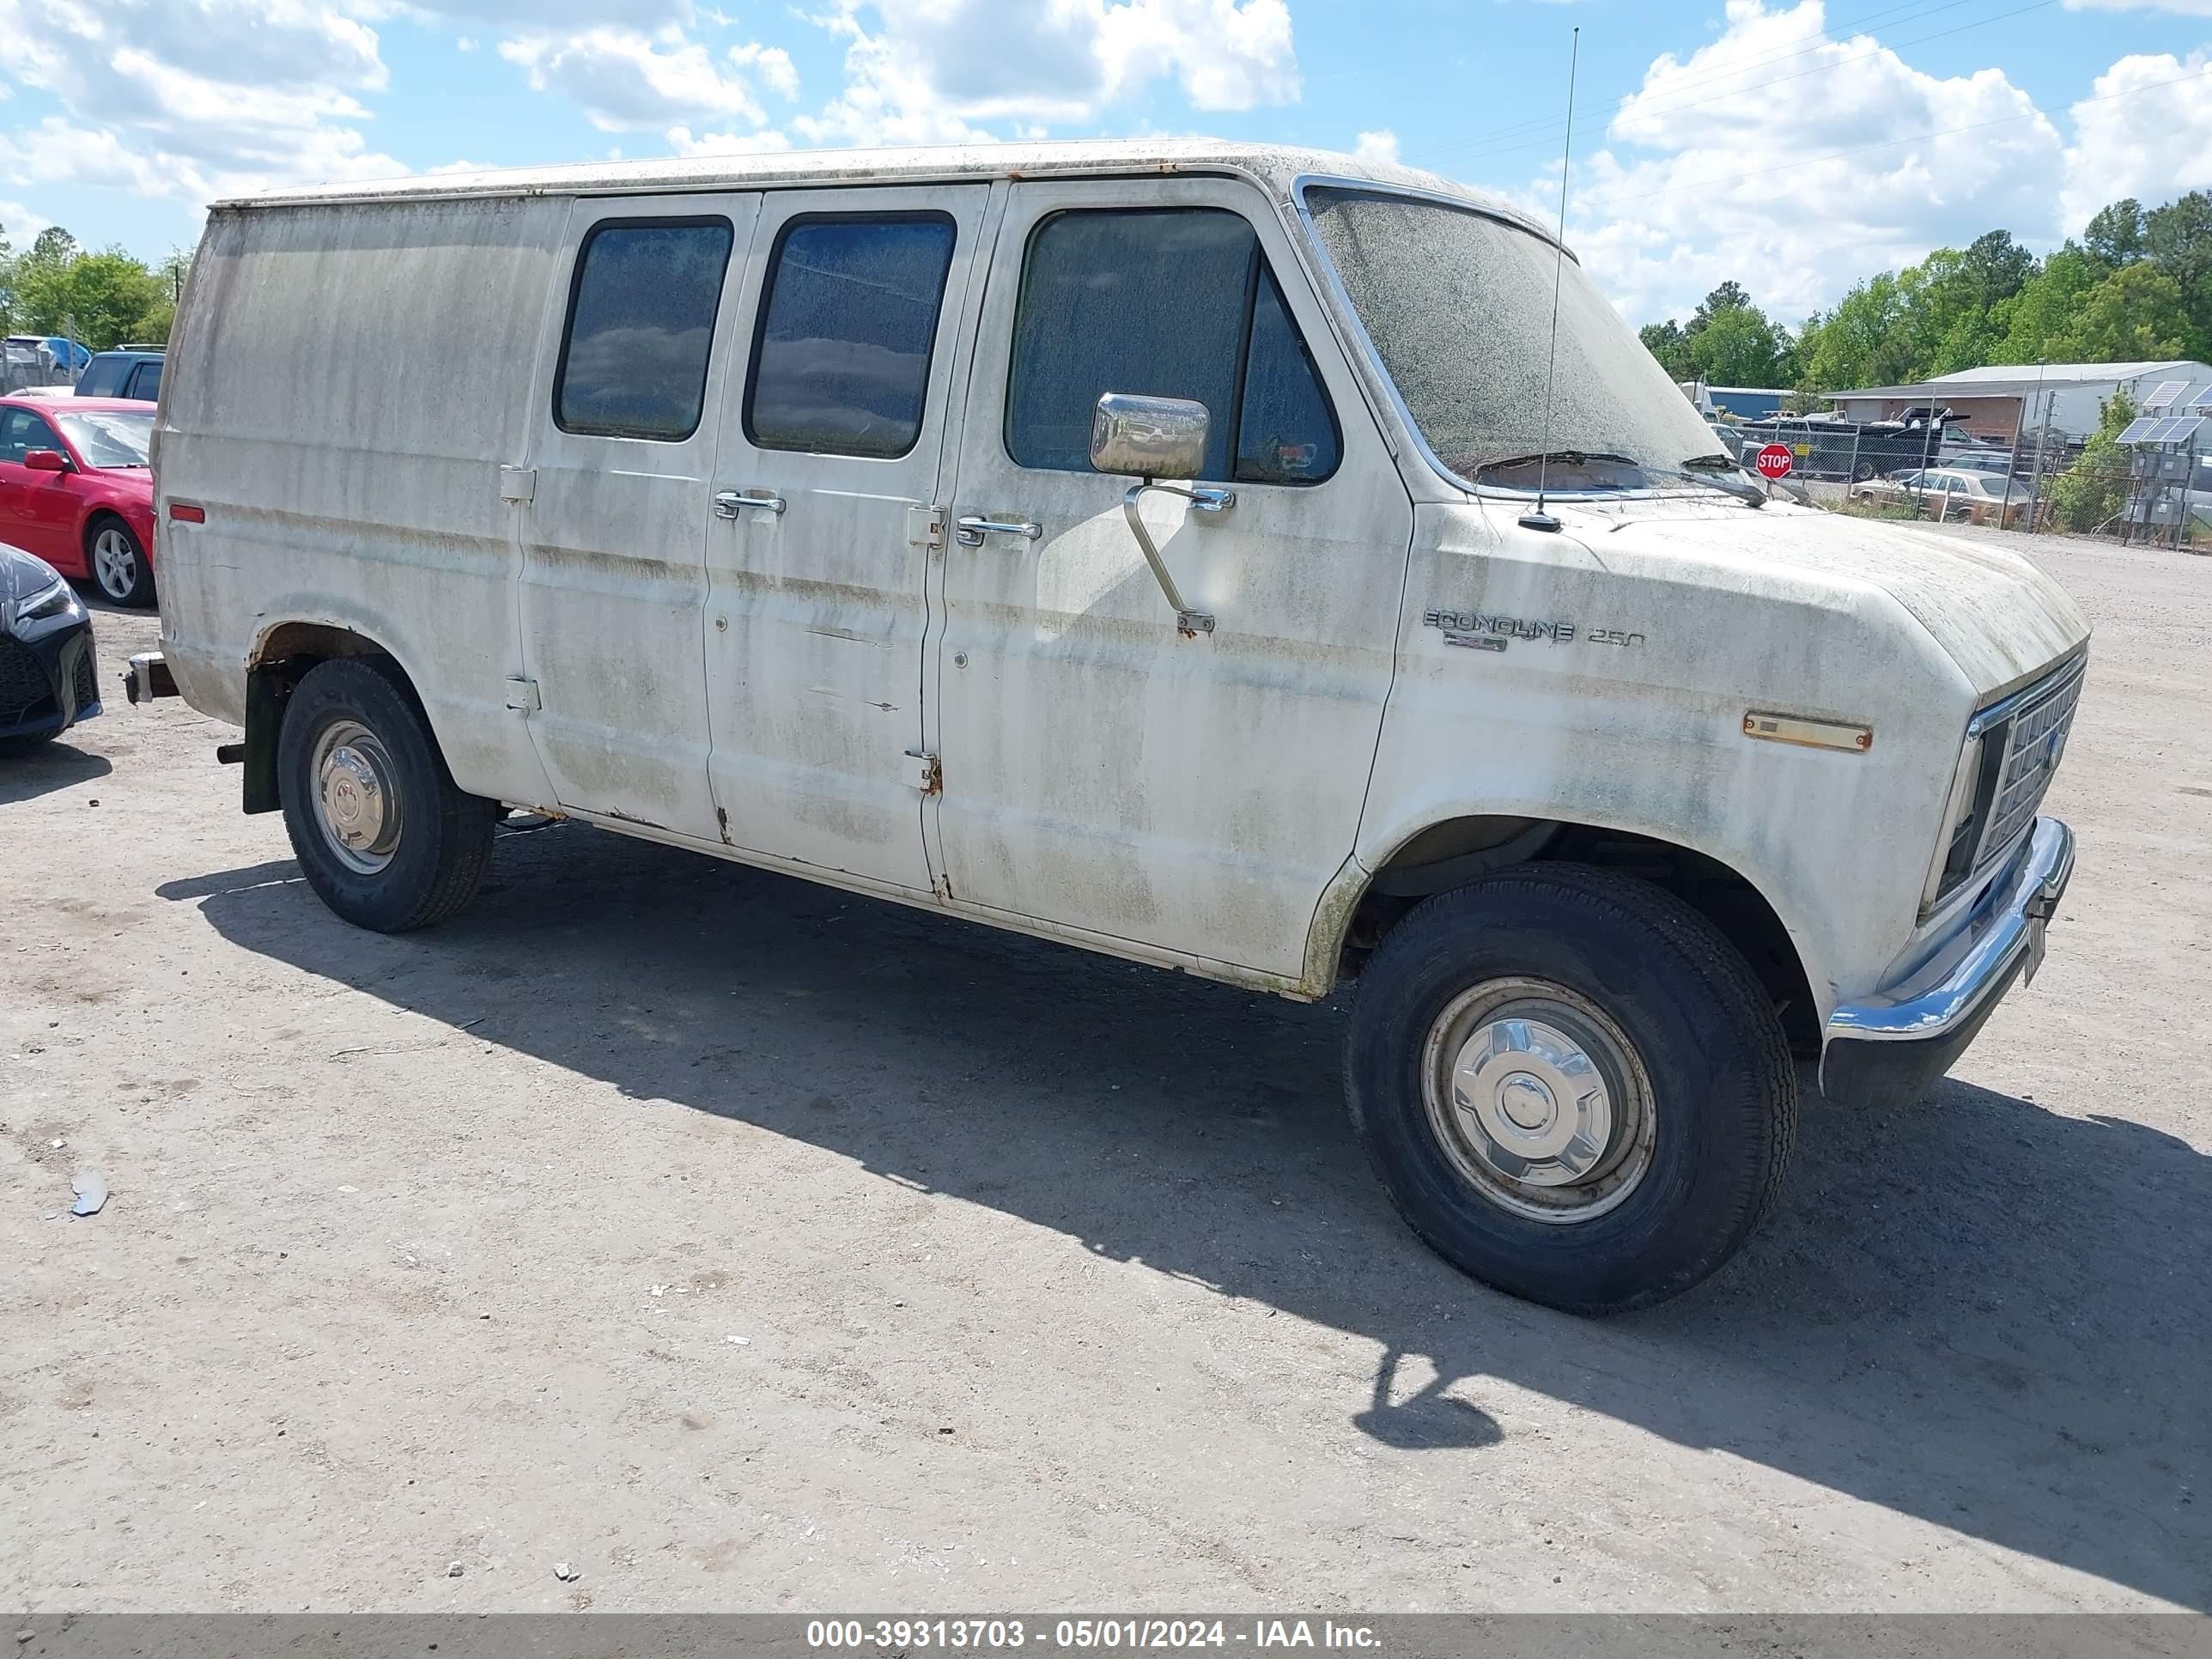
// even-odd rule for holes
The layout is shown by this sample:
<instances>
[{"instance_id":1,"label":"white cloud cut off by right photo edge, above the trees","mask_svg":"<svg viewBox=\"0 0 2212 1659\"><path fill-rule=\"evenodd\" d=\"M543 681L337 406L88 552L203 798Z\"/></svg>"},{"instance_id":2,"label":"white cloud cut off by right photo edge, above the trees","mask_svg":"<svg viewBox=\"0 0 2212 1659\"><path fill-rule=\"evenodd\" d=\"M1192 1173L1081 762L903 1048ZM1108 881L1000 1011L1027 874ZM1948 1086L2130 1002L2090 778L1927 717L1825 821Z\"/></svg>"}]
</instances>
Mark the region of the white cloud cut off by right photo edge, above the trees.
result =
<instances>
[{"instance_id":1,"label":"white cloud cut off by right photo edge, above the trees","mask_svg":"<svg viewBox=\"0 0 2212 1659\"><path fill-rule=\"evenodd\" d=\"M2208 4L2212 9L2212 4ZM2121 58L2073 106L2064 223L2070 234L2108 201L2146 206L2212 188L2212 49ZM2179 82L2179 84L2174 84Z\"/></svg>"}]
</instances>

